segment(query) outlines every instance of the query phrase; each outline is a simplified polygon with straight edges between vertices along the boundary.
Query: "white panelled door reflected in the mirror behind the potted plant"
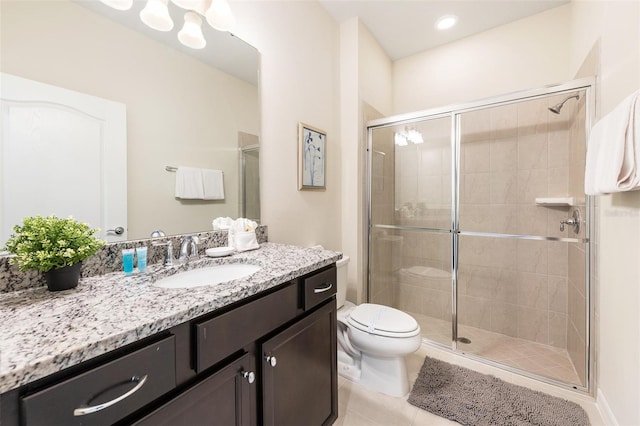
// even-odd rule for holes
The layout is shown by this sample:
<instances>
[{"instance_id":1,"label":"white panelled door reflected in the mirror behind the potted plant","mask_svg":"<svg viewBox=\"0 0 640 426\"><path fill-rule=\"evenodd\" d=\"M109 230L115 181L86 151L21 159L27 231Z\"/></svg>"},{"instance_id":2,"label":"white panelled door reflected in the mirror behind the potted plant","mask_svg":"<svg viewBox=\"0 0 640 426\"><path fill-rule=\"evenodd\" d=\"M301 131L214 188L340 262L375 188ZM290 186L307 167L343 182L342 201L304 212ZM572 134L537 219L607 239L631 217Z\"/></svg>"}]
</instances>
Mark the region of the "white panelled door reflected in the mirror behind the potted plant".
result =
<instances>
[{"instance_id":1,"label":"white panelled door reflected in the mirror behind the potted plant","mask_svg":"<svg viewBox=\"0 0 640 426\"><path fill-rule=\"evenodd\" d=\"M25 216L127 238L126 105L0 73L0 246ZM113 231L122 227L124 232Z\"/></svg>"}]
</instances>

